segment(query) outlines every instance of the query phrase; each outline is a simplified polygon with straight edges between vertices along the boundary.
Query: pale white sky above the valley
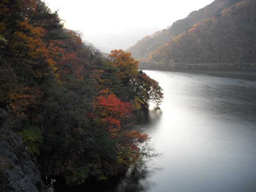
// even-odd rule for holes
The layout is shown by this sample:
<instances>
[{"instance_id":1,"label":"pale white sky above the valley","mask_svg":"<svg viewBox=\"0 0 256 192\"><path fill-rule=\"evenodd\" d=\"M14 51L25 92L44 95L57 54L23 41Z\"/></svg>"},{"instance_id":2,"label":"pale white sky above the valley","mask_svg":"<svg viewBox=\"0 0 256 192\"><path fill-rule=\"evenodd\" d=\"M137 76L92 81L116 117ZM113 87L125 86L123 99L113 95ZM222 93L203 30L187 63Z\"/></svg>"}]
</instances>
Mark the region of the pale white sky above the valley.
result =
<instances>
[{"instance_id":1,"label":"pale white sky above the valley","mask_svg":"<svg viewBox=\"0 0 256 192\"><path fill-rule=\"evenodd\" d=\"M103 52L126 50L214 0L45 0L65 26Z\"/></svg>"}]
</instances>

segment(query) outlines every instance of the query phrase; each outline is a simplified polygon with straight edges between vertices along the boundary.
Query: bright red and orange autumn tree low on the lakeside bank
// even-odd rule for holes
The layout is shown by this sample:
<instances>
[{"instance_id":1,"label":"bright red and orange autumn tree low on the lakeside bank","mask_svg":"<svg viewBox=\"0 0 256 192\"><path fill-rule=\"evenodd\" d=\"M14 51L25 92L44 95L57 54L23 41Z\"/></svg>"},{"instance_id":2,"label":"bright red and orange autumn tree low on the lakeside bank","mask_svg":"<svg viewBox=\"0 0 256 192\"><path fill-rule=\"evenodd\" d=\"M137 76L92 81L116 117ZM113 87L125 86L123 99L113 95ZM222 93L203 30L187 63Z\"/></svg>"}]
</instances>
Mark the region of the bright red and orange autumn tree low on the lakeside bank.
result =
<instances>
[{"instance_id":1,"label":"bright red and orange autumn tree low on the lakeside bank","mask_svg":"<svg viewBox=\"0 0 256 192\"><path fill-rule=\"evenodd\" d=\"M117 150L116 166L121 170L150 155L151 150L141 145L150 139L148 135L131 129L131 125L127 123L132 110L129 102L122 102L114 94L99 96L95 104L94 115L97 114L102 128L114 140ZM93 119L92 115L91 118Z\"/></svg>"}]
</instances>

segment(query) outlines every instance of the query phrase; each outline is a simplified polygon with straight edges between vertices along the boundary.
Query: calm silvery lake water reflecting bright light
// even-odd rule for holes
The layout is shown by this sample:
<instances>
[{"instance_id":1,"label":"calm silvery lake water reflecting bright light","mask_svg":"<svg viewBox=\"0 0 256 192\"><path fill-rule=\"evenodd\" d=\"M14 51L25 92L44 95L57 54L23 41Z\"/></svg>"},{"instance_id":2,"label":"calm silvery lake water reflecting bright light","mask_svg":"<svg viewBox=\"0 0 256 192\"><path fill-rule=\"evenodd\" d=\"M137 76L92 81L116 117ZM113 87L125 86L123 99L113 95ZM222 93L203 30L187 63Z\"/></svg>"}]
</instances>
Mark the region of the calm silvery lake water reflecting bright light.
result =
<instances>
[{"instance_id":1,"label":"calm silvery lake water reflecting bright light","mask_svg":"<svg viewBox=\"0 0 256 192\"><path fill-rule=\"evenodd\" d=\"M116 192L255 192L256 82L146 73L165 97L137 128L163 156L122 179Z\"/></svg>"}]
</instances>

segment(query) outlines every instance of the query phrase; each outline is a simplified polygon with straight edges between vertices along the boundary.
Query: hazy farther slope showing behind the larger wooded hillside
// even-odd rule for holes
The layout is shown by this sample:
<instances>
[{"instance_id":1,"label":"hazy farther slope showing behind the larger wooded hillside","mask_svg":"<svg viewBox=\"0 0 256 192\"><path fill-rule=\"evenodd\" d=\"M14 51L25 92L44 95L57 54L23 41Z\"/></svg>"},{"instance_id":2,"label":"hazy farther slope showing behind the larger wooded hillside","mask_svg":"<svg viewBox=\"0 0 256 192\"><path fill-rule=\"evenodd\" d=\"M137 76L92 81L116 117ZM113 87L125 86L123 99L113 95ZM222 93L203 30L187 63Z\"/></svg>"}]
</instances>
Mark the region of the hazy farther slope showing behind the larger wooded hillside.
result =
<instances>
[{"instance_id":1,"label":"hazy farther slope showing behind the larger wooded hillside","mask_svg":"<svg viewBox=\"0 0 256 192\"><path fill-rule=\"evenodd\" d=\"M153 52L156 48L168 42L168 40L171 40L175 36L192 28L194 24L200 21L208 19L215 14L220 14L222 10L239 1L241 0L215 0L208 6L191 12L186 18L177 20L167 29L158 31L151 36L144 37L127 51L131 52L132 56L136 59L147 58L150 52Z\"/></svg>"}]
</instances>

